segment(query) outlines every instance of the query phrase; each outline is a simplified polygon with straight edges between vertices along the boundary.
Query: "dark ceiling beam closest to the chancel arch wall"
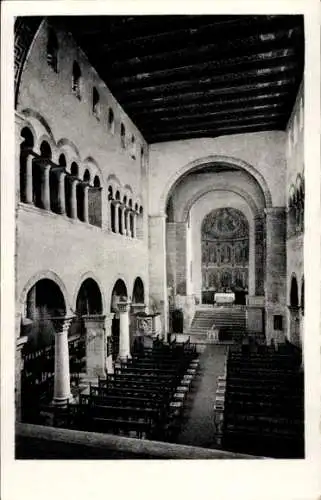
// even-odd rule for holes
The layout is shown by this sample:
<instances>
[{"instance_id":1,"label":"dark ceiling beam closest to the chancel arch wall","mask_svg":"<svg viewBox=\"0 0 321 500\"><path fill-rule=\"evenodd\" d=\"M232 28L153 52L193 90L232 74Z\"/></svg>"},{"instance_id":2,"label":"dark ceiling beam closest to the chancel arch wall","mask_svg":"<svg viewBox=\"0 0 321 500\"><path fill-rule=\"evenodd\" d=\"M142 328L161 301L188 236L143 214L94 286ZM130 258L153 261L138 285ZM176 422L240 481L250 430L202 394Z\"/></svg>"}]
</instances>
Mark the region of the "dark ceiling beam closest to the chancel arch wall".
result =
<instances>
[{"instance_id":1,"label":"dark ceiling beam closest to the chancel arch wall","mask_svg":"<svg viewBox=\"0 0 321 500\"><path fill-rule=\"evenodd\" d=\"M269 121L264 120L260 123L249 124L249 125L238 125L231 127L216 127L213 129L195 129L189 130L187 132L179 132L176 134L173 133L162 133L162 134L154 134L148 136L148 141L150 144L156 142L165 142L165 141L177 141L180 139L193 139L197 137L217 137L219 135L231 135L231 134L243 134L246 132L261 132L263 130L281 130L278 125L278 122L275 120Z\"/></svg>"}]
</instances>

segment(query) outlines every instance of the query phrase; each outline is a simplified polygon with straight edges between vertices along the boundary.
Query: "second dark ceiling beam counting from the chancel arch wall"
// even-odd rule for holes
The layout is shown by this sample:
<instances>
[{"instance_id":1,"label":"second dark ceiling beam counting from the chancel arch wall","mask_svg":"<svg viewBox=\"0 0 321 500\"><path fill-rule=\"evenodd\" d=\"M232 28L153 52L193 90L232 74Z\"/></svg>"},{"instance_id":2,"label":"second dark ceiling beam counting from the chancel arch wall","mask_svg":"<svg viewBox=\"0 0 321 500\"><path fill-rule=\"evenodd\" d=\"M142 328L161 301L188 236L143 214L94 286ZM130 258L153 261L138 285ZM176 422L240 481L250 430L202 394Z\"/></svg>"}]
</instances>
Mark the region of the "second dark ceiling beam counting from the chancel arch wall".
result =
<instances>
[{"instance_id":1,"label":"second dark ceiling beam counting from the chancel arch wall","mask_svg":"<svg viewBox=\"0 0 321 500\"><path fill-rule=\"evenodd\" d=\"M172 124L171 126L170 125L166 125L166 124L163 124L163 125L155 125L154 127L153 126L149 126L148 127L148 131L153 133L153 132L156 132L156 133L162 133L162 132L170 132L172 130L172 132L176 133L177 131L179 130L189 130L189 129L194 129L195 126L197 127L200 127L201 129L204 129L206 127L212 127L213 124L215 124L215 126L219 126L221 127L221 125L223 124L226 124L226 125L232 125L232 124L235 124L235 123L256 123L257 121L262 121L262 120L277 120L279 118L282 118L285 116L285 113L284 112L265 112L265 113L254 113L254 114L250 114L250 115L245 115L245 116L230 116L230 117L227 117L227 118L224 118L224 119L220 119L220 120L216 120L216 121L213 121L211 119L208 119L207 117L205 117L205 119L203 120L195 120L194 123L190 123L190 122L184 122L184 123L178 123L178 124ZM143 130L143 133L144 133L144 130Z\"/></svg>"}]
</instances>

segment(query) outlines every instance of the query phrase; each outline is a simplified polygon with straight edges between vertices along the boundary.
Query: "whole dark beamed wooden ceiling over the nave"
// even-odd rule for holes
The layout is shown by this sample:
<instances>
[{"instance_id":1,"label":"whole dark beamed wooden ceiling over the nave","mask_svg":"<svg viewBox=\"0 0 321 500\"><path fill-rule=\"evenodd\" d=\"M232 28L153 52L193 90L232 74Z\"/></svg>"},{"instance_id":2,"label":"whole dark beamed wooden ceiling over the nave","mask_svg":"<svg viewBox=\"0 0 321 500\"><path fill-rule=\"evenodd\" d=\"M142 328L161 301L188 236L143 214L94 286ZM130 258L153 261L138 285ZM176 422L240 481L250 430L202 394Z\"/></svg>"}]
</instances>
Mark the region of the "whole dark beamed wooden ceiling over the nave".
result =
<instances>
[{"instance_id":1,"label":"whole dark beamed wooden ceiling over the nave","mask_svg":"<svg viewBox=\"0 0 321 500\"><path fill-rule=\"evenodd\" d=\"M284 130L303 16L60 17L149 143Z\"/></svg>"}]
</instances>

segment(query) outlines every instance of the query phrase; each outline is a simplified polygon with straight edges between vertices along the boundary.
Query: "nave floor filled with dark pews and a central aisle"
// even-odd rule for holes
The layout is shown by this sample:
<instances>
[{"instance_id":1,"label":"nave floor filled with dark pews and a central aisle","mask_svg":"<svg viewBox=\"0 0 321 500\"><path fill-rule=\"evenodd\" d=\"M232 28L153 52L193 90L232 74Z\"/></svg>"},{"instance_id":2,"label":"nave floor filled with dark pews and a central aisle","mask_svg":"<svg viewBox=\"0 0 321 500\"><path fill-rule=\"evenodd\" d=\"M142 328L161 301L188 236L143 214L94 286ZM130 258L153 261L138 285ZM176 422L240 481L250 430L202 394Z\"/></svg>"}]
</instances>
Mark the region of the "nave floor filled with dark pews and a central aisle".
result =
<instances>
[{"instance_id":1,"label":"nave floor filled with dark pews and a central aisle","mask_svg":"<svg viewBox=\"0 0 321 500\"><path fill-rule=\"evenodd\" d=\"M27 393L23 421L88 436L94 432L252 457L303 457L300 352L289 344L275 351L245 339L202 347L189 340L174 338L167 344L155 339L149 348L136 345L131 359L116 362L113 374L85 389L79 374L77 385L74 349L73 400L52 406L48 383L35 384L38 393L33 399ZM26 441L19 443L16 452L23 458L30 450ZM56 458L64 458L63 447L60 452ZM123 454L120 442L112 456Z\"/></svg>"}]
</instances>

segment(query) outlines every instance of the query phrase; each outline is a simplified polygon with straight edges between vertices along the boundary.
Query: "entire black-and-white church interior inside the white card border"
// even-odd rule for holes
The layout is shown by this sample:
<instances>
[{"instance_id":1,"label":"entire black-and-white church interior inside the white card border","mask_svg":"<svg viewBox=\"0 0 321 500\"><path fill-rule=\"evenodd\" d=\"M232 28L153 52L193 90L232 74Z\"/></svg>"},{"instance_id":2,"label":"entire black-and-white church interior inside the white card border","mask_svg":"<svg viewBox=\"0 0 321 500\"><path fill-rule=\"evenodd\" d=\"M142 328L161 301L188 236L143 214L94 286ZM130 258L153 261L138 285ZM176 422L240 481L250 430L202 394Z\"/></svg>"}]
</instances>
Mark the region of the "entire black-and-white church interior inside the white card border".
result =
<instances>
[{"instance_id":1,"label":"entire black-and-white church interior inside the white card border","mask_svg":"<svg viewBox=\"0 0 321 500\"><path fill-rule=\"evenodd\" d=\"M16 458L304 458L304 17L14 35Z\"/></svg>"}]
</instances>

